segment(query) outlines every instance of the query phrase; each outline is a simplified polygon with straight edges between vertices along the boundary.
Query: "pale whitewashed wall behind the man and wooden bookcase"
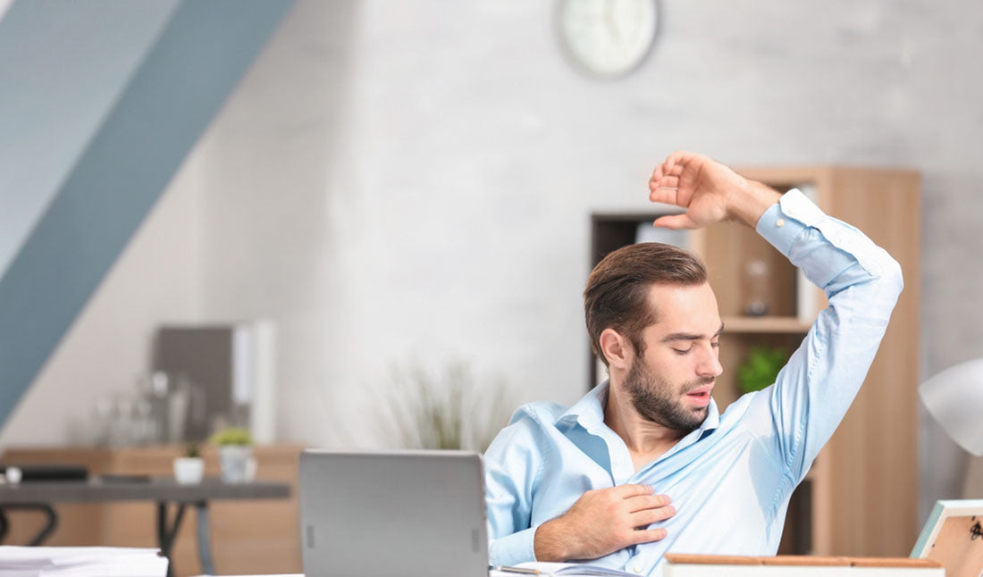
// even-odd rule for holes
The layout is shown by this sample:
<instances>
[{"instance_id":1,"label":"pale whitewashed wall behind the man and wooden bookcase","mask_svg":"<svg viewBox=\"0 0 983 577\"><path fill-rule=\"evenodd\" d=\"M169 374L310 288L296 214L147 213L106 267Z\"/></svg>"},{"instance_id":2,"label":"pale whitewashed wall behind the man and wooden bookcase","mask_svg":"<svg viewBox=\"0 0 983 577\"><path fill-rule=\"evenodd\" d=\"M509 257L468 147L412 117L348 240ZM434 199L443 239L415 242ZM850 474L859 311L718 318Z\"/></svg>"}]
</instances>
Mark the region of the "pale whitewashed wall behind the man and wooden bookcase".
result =
<instances>
[{"instance_id":1,"label":"pale whitewashed wall behind the man and wooden bookcase","mask_svg":"<svg viewBox=\"0 0 983 577\"><path fill-rule=\"evenodd\" d=\"M196 150L198 178L168 191L200 200L202 242L158 268L201 259L187 278L201 279L202 319L278 324L284 439L369 443L388 366L413 359L470 360L506 375L517 401L572 402L586 379L588 214L644 207L651 167L679 147L922 171L925 374L980 355L983 8L665 1L651 59L617 82L570 69L552 9L302 0ZM155 230L141 234L190 241ZM107 287L150 274L128 262ZM149 333L128 312L107 305L91 322ZM51 365L94 346L73 333ZM143 359L117 357L98 369ZM62 386L52 371L25 411ZM25 438L10 434L23 418L0 442ZM962 455L931 427L925 438L924 500L953 496Z\"/></svg>"}]
</instances>

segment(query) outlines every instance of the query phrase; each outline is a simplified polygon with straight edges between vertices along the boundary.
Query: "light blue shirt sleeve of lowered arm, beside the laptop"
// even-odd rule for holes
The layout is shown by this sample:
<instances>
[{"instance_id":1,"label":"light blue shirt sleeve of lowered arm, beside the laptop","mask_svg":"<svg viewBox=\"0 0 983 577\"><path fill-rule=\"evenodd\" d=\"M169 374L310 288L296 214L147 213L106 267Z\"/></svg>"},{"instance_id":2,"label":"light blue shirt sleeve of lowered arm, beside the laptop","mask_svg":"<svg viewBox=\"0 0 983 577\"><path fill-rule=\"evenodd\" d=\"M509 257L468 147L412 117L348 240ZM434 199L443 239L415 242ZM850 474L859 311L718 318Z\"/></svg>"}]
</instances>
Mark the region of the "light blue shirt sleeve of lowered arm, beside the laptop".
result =
<instances>
[{"instance_id":1,"label":"light blue shirt sleeve of lowered arm, beside the laptop","mask_svg":"<svg viewBox=\"0 0 983 577\"><path fill-rule=\"evenodd\" d=\"M531 527L532 495L545 454L533 419L520 409L485 452L485 502L488 507L489 563L516 565L535 561Z\"/></svg>"}]
</instances>

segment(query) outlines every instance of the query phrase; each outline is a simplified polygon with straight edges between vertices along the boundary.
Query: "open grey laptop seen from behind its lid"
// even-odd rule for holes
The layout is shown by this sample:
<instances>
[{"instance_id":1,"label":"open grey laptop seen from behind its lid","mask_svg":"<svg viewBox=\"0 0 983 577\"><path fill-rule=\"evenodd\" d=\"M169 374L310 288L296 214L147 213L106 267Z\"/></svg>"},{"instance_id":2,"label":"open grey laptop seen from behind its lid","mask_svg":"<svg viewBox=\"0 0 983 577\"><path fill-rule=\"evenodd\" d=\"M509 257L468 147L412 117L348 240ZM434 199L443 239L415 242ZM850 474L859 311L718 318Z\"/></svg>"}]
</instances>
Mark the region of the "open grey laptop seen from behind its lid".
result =
<instances>
[{"instance_id":1,"label":"open grey laptop seen from behind its lid","mask_svg":"<svg viewBox=\"0 0 983 577\"><path fill-rule=\"evenodd\" d=\"M300 505L305 577L488 577L478 453L308 449Z\"/></svg>"}]
</instances>

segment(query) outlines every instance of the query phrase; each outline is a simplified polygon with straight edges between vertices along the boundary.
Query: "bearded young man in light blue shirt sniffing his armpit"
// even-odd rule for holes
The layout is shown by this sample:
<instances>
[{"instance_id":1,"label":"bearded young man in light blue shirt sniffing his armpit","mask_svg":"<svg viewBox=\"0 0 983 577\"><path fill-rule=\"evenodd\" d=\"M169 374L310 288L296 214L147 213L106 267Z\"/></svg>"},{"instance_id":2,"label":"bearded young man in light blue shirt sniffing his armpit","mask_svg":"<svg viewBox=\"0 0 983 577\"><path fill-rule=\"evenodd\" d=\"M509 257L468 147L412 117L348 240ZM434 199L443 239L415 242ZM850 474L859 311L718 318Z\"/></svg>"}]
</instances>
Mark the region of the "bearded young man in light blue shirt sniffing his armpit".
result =
<instances>
[{"instance_id":1,"label":"bearded young man in light blue shirt sniffing his armpit","mask_svg":"<svg viewBox=\"0 0 983 577\"><path fill-rule=\"evenodd\" d=\"M753 227L823 288L829 307L772 386L723 415L723 323L707 271L657 243L602 260L584 305L609 379L570 408L521 407L485 456L492 564L591 560L659 575L666 551L775 554L792 490L863 383L901 291L897 262L798 191L780 195L711 158L675 152L656 220Z\"/></svg>"}]
</instances>

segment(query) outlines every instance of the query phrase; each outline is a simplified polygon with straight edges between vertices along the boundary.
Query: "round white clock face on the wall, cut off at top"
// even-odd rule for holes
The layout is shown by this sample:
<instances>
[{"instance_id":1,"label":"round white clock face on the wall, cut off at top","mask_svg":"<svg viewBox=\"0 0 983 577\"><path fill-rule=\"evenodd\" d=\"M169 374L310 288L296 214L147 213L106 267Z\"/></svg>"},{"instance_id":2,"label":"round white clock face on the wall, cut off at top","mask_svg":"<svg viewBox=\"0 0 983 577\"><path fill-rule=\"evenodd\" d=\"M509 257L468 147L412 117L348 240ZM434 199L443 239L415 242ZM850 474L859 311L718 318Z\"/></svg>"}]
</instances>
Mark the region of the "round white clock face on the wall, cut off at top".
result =
<instances>
[{"instance_id":1,"label":"round white clock face on the wall, cut off at top","mask_svg":"<svg viewBox=\"0 0 983 577\"><path fill-rule=\"evenodd\" d=\"M557 26L573 62L603 77L637 68L652 49L657 0L560 0Z\"/></svg>"}]
</instances>

